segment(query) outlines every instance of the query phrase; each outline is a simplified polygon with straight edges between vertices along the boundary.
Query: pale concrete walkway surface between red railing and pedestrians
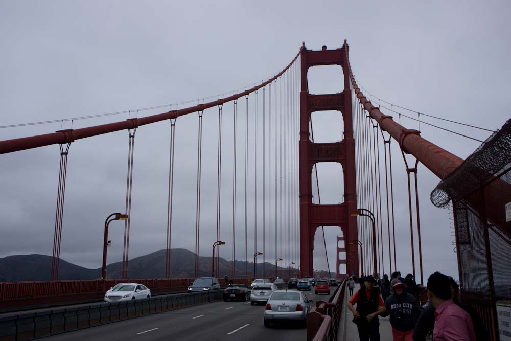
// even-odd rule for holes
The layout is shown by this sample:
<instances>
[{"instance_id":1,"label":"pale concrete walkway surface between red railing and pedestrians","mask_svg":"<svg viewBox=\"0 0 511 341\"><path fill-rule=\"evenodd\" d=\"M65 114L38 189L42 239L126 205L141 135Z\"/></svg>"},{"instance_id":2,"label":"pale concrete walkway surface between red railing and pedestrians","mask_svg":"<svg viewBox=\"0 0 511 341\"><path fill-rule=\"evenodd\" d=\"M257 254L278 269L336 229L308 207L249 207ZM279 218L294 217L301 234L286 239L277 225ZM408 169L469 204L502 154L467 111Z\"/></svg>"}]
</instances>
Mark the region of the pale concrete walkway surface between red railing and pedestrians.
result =
<instances>
[{"instance_id":1,"label":"pale concrete walkway surface between red railing and pedestrians","mask_svg":"<svg viewBox=\"0 0 511 341\"><path fill-rule=\"evenodd\" d=\"M353 292L360 289L360 284L355 285ZM337 333L337 341L358 340L357 325L352 322L353 314L348 309L347 304L350 300L350 290L346 288L344 292L344 303L342 305L342 317L339 323L339 332ZM389 317L378 316L380 320L380 340L392 341L392 327L390 326Z\"/></svg>"}]
</instances>

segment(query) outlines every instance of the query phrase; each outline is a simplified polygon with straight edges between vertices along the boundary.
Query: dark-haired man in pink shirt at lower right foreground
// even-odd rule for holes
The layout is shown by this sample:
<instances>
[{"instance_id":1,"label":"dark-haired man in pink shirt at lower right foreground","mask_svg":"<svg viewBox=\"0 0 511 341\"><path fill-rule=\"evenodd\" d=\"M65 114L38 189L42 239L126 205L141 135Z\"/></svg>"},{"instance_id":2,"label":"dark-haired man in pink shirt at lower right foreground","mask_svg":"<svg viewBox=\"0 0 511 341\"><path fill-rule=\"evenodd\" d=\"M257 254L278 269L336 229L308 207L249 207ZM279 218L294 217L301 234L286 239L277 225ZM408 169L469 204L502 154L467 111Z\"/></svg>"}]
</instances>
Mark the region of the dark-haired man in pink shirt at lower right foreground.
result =
<instances>
[{"instance_id":1,"label":"dark-haired man in pink shirt at lower right foreground","mask_svg":"<svg viewBox=\"0 0 511 341\"><path fill-rule=\"evenodd\" d=\"M428 298L436 309L433 341L476 341L472 318L451 299L449 277L440 272L431 274Z\"/></svg>"}]
</instances>

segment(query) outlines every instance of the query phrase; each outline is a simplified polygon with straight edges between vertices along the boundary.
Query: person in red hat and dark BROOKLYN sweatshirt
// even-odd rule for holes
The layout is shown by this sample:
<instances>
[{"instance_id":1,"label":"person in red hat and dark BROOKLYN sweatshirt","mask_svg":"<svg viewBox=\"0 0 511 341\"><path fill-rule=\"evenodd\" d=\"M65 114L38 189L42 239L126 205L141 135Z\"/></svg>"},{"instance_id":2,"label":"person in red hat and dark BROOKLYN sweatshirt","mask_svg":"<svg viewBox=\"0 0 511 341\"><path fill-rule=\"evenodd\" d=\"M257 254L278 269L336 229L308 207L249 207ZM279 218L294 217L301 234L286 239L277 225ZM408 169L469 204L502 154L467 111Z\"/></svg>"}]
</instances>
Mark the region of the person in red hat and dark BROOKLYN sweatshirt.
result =
<instances>
[{"instance_id":1,"label":"person in red hat and dark BROOKLYN sweatshirt","mask_svg":"<svg viewBox=\"0 0 511 341\"><path fill-rule=\"evenodd\" d=\"M393 341L412 341L413 328L421 308L417 300L406 292L406 284L394 283L394 292L385 301L385 309L390 314Z\"/></svg>"}]
</instances>

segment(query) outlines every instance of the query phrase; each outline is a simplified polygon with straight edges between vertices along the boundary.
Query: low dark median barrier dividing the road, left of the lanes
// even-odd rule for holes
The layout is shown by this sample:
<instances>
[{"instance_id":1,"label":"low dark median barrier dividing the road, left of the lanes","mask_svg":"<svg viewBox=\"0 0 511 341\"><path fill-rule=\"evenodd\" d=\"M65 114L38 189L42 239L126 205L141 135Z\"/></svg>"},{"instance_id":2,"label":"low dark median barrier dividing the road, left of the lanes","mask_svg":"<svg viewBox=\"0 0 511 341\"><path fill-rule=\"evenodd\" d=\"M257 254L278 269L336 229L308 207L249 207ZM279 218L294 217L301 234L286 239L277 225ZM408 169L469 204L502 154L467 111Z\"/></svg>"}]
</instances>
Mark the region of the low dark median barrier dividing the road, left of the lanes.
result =
<instances>
[{"instance_id":1,"label":"low dark median barrier dividing the road, left of the lanes","mask_svg":"<svg viewBox=\"0 0 511 341\"><path fill-rule=\"evenodd\" d=\"M32 340L221 299L222 290L213 290L14 314L0 317L0 341Z\"/></svg>"}]
</instances>

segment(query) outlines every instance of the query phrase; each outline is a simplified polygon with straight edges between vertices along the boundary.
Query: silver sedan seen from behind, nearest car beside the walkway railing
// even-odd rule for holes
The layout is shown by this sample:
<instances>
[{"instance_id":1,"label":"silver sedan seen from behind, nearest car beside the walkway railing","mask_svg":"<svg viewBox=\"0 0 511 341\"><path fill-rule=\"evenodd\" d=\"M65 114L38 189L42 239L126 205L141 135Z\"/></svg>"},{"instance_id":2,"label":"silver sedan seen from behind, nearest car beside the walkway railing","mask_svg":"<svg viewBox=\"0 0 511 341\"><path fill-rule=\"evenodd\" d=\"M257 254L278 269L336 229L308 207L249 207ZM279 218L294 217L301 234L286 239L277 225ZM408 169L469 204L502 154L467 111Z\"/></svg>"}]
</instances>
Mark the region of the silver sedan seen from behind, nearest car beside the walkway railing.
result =
<instances>
[{"instance_id":1,"label":"silver sedan seen from behind, nearest car beside the walkway railing","mask_svg":"<svg viewBox=\"0 0 511 341\"><path fill-rule=\"evenodd\" d=\"M311 311L311 303L303 292L278 290L274 291L266 303L264 310L264 326L270 327L277 320L299 321L307 325L307 313Z\"/></svg>"}]
</instances>

